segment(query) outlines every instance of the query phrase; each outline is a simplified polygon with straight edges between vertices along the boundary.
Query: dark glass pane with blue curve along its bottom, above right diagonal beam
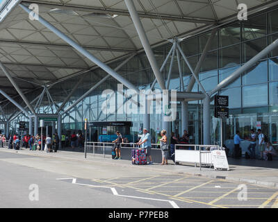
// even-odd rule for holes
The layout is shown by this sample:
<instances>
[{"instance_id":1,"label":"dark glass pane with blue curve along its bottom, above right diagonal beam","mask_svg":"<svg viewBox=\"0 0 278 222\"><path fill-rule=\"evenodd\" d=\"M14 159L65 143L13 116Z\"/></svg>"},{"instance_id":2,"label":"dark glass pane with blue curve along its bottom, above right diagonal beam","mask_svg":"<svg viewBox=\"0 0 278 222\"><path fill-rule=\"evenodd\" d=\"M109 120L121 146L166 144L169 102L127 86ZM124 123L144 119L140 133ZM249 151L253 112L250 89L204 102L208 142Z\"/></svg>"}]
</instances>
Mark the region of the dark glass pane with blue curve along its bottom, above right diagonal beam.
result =
<instances>
[{"instance_id":1,"label":"dark glass pane with blue curve along its bottom, above right diagonal beam","mask_svg":"<svg viewBox=\"0 0 278 222\"><path fill-rule=\"evenodd\" d=\"M219 50L219 67L240 65L240 44Z\"/></svg>"}]
</instances>

